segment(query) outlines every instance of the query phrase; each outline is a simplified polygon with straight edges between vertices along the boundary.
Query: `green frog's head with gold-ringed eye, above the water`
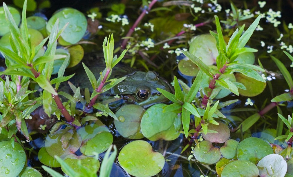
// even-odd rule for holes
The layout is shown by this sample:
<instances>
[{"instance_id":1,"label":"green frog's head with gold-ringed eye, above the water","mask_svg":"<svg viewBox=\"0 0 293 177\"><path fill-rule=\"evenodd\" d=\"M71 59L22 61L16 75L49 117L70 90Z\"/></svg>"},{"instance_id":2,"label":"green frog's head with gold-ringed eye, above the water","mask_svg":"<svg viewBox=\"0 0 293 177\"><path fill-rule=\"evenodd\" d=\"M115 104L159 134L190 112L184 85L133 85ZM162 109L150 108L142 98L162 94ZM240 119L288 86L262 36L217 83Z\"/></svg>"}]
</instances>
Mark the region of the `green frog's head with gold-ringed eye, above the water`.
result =
<instances>
[{"instance_id":1,"label":"green frog's head with gold-ringed eye, above the water","mask_svg":"<svg viewBox=\"0 0 293 177\"><path fill-rule=\"evenodd\" d=\"M160 78L154 71L147 73L135 71L127 78L113 87L114 93L120 93L124 99L143 107L156 103L166 102L168 99L157 88L172 92L171 86Z\"/></svg>"}]
</instances>

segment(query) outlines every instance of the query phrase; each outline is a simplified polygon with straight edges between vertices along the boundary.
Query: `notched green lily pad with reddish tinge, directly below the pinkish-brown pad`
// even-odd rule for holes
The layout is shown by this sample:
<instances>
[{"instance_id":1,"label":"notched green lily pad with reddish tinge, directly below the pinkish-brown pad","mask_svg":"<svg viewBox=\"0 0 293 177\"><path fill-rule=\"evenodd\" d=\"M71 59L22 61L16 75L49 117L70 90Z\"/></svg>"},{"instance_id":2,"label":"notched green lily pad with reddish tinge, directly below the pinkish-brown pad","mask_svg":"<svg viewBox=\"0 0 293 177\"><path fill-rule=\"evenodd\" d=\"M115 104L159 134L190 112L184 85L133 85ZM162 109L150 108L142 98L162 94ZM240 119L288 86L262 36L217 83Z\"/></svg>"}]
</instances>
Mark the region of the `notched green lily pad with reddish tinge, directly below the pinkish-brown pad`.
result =
<instances>
[{"instance_id":1,"label":"notched green lily pad with reddish tinge, directly below the pinkish-brown pad","mask_svg":"<svg viewBox=\"0 0 293 177\"><path fill-rule=\"evenodd\" d=\"M193 151L194 157L202 164L215 164L221 158L220 149L214 147L211 142L203 140L199 142Z\"/></svg>"}]
</instances>

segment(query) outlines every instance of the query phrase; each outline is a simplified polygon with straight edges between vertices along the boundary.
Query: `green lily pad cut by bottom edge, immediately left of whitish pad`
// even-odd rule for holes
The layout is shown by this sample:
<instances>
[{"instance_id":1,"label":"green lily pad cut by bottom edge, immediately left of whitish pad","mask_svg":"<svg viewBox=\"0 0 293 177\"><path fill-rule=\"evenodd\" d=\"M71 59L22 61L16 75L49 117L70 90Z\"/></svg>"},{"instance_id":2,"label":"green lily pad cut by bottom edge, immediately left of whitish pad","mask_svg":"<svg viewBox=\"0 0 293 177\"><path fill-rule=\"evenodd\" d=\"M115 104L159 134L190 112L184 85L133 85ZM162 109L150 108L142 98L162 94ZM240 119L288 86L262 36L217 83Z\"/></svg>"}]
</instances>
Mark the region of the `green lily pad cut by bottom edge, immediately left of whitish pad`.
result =
<instances>
[{"instance_id":1,"label":"green lily pad cut by bottom edge, immediately left of whitish pad","mask_svg":"<svg viewBox=\"0 0 293 177\"><path fill-rule=\"evenodd\" d=\"M258 168L248 160L232 161L224 167L221 173L221 177L231 176L257 177Z\"/></svg>"}]
</instances>

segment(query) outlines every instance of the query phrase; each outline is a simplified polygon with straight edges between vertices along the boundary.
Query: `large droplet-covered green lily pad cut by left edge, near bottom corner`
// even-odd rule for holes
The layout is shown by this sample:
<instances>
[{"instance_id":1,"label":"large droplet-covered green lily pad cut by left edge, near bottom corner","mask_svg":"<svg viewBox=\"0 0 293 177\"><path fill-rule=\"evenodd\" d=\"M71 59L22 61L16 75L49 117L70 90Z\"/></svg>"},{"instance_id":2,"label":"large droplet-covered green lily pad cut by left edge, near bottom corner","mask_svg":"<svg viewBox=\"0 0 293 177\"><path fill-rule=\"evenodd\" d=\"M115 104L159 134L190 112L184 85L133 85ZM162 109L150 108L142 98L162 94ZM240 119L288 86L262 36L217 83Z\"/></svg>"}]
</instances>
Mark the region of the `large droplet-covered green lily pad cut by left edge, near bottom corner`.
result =
<instances>
[{"instance_id":1,"label":"large droplet-covered green lily pad cut by left edge, near bottom corner","mask_svg":"<svg viewBox=\"0 0 293 177\"><path fill-rule=\"evenodd\" d=\"M25 152L23 147L14 142L12 147L10 141L0 142L0 176L17 176L25 165Z\"/></svg>"}]
</instances>

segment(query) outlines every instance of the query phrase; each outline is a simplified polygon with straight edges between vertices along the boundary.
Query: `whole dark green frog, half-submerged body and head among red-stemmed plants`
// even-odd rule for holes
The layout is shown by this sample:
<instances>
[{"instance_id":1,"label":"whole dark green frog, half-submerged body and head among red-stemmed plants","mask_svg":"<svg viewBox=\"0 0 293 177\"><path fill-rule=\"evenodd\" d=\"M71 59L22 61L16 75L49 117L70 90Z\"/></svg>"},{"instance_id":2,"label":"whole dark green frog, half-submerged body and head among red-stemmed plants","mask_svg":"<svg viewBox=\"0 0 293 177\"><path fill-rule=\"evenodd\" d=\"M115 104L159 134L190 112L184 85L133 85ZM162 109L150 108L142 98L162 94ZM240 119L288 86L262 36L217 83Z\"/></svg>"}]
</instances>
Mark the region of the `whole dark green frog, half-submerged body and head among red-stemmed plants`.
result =
<instances>
[{"instance_id":1,"label":"whole dark green frog, half-submerged body and head among red-stemmed plants","mask_svg":"<svg viewBox=\"0 0 293 177\"><path fill-rule=\"evenodd\" d=\"M100 72L105 69L105 63L97 61L96 55L91 55L87 57L92 57L90 61L94 64L86 63L87 67L93 72L96 78L100 76ZM139 71L134 68L130 68L123 64L116 65L111 72L109 79L121 78L126 76L126 78L112 87L107 92L99 96L98 102L107 103L106 100L113 100L113 97L120 97L117 105L120 104L137 104L144 108L147 108L156 103L168 102L168 99L157 90L161 88L167 92L173 92L172 87L166 81L166 79L159 76L155 71ZM89 88L92 92L92 86L86 72L83 68L79 68L75 71L75 75L71 80L76 87L81 87L81 89Z\"/></svg>"}]
</instances>

